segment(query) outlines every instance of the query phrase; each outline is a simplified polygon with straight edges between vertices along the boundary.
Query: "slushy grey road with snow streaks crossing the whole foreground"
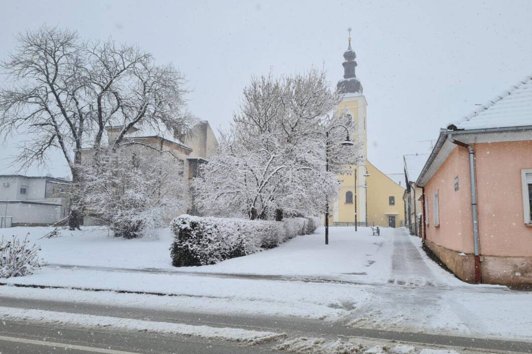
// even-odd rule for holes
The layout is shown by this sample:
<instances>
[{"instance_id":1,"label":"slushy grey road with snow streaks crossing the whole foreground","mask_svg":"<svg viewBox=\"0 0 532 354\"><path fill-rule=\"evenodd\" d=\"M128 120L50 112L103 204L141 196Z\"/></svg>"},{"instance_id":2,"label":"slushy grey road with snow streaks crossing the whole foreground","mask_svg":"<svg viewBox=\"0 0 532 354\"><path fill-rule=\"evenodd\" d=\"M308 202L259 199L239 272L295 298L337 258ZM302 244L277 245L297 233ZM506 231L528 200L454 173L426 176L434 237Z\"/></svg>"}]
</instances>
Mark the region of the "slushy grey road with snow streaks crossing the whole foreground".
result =
<instances>
[{"instance_id":1,"label":"slushy grey road with snow streaks crossing the whole foreground","mask_svg":"<svg viewBox=\"0 0 532 354\"><path fill-rule=\"evenodd\" d=\"M290 338L322 338L329 342L340 340L342 342L361 343L364 348L371 348L377 345L404 342L417 348L427 348L433 346L452 346L459 352L468 352L464 348L489 349L494 351L531 352L532 343L519 341L498 341L464 338L462 336L427 335L422 333L395 332L383 330L369 330L353 327L346 327L340 324L324 323L322 321L279 318L272 316L251 316L251 315L212 315L187 312L176 312L172 310L139 309L127 305L122 306L100 306L79 304L71 301L53 300L20 300L15 298L0 297L0 306L12 308L12 312L18 310L32 309L41 313L54 314L53 322L49 324L39 323L30 318L31 313L26 312L26 320L5 319L4 325L0 327L0 348L2 353L28 353L43 352L48 353L49 347L42 348L42 351L7 351L6 349L40 348L43 343L54 342L61 344L52 347L63 349L69 345L81 347L110 350L110 354L129 354L157 352L157 353L263 353L273 352L271 349L278 343ZM0 307L2 310L2 307ZM64 321L64 314L84 318L83 316L100 316L105 318L117 318L119 322L137 321L137 323L149 322L160 326L164 325L166 330L171 326L181 325L190 327L205 327L225 330L236 329L244 331L242 340L227 340L227 338L200 338L198 336L182 335L182 333L157 332L155 326L147 325L147 330L121 330L119 326L100 325L85 329L80 325L73 325ZM45 315L41 315L45 317ZM138 324L137 324L138 326ZM151 328L149 330L148 328ZM199 330L198 333L206 333ZM278 338L271 338L264 342L247 343L245 338L252 333L280 333L286 334ZM7 338L7 339L6 339ZM18 340L22 339L22 340ZM36 341L27 343L24 340ZM391 342L394 341L394 342ZM86 349L90 352L90 350ZM125 351L126 353L122 353ZM50 350L50 353L56 351ZM64 352L64 350L61 350ZM70 351L65 351L70 352ZM77 351L73 351L77 352ZM278 351L277 351L278 352ZM334 352L331 352L334 353Z\"/></svg>"}]
</instances>

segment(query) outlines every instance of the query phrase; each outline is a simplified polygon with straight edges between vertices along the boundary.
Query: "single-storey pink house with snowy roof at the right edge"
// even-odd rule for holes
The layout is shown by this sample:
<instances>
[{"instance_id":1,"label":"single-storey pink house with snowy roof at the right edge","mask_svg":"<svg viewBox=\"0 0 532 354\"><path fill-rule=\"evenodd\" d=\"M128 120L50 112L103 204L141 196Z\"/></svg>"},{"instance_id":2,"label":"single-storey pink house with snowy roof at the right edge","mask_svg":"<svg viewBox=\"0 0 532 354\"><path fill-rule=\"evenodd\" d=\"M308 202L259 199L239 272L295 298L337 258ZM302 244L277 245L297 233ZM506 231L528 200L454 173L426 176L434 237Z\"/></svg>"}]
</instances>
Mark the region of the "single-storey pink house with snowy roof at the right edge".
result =
<instances>
[{"instance_id":1,"label":"single-storey pink house with snowy roof at the right edge","mask_svg":"<svg viewBox=\"0 0 532 354\"><path fill-rule=\"evenodd\" d=\"M532 77L441 129L417 185L423 241L460 279L532 284Z\"/></svg>"}]
</instances>

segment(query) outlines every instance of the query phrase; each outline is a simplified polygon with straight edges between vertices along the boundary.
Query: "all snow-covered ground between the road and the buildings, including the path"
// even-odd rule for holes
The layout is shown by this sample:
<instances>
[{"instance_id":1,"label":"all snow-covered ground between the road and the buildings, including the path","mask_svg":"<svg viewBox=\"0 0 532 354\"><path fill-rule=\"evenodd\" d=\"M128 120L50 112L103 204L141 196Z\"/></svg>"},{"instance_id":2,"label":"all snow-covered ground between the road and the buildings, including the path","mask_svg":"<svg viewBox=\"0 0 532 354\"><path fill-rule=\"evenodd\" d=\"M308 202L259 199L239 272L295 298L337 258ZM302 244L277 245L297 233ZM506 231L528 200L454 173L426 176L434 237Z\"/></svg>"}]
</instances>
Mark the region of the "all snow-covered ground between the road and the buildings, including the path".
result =
<instances>
[{"instance_id":1,"label":"all snow-covered ground between the road and the buildings, including the path","mask_svg":"<svg viewBox=\"0 0 532 354\"><path fill-rule=\"evenodd\" d=\"M376 237L368 228L356 233L353 228L331 228L326 246L320 228L270 251L179 269L170 264L171 235L165 229L159 237L138 240L116 239L101 228L40 240L49 229L3 229L4 236L9 236L6 230L22 237L30 232L46 262L71 266L47 266L7 280L66 289L3 286L0 296L295 316L355 327L532 340L530 292L463 283L430 261L420 250L420 240L404 229L383 229Z\"/></svg>"}]
</instances>

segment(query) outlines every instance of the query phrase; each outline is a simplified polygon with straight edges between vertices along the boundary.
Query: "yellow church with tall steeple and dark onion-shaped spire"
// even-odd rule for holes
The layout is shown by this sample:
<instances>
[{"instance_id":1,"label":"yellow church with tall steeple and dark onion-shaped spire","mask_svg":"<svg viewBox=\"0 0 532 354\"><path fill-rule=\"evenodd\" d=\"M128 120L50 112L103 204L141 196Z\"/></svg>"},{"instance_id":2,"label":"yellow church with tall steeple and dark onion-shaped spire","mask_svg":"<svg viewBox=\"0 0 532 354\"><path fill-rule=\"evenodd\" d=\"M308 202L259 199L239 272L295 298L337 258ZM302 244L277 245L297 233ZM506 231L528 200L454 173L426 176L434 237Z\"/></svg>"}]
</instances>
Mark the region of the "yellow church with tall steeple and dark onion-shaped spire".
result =
<instances>
[{"instance_id":1,"label":"yellow church with tall steeple and dark onion-shaped spire","mask_svg":"<svg viewBox=\"0 0 532 354\"><path fill-rule=\"evenodd\" d=\"M341 183L336 202L331 203L329 225L401 227L404 226L404 188L381 172L367 158L368 121L367 106L362 84L355 75L356 54L349 45L344 53L344 79L337 84L342 101L338 110L345 110L355 120L357 131L353 139L361 143L361 159L351 166L351 173L339 175ZM356 183L355 183L356 179Z\"/></svg>"}]
</instances>

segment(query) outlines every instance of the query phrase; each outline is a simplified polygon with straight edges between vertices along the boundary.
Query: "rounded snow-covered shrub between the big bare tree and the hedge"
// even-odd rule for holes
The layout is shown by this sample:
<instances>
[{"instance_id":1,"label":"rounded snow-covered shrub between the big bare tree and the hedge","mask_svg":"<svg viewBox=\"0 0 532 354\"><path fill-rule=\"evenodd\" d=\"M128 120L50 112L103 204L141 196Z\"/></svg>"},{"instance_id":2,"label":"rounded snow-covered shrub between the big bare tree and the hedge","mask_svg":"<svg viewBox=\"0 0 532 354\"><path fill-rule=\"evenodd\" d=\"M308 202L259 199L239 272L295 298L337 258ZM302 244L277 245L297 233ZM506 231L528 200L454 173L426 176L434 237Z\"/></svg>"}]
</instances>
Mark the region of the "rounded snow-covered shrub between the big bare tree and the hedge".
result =
<instances>
[{"instance_id":1,"label":"rounded snow-covered shrub between the big bare tree and the hedge","mask_svg":"<svg viewBox=\"0 0 532 354\"><path fill-rule=\"evenodd\" d=\"M136 238L177 215L182 171L182 163L169 151L134 144L101 149L80 167L80 199L86 213L109 225L114 236Z\"/></svg>"}]
</instances>

